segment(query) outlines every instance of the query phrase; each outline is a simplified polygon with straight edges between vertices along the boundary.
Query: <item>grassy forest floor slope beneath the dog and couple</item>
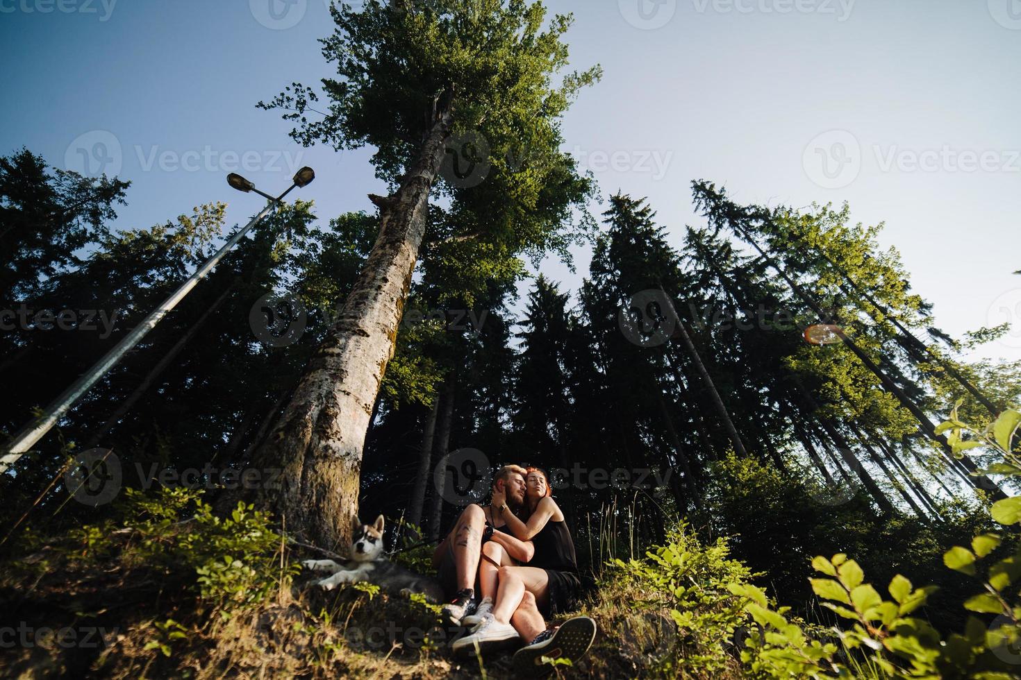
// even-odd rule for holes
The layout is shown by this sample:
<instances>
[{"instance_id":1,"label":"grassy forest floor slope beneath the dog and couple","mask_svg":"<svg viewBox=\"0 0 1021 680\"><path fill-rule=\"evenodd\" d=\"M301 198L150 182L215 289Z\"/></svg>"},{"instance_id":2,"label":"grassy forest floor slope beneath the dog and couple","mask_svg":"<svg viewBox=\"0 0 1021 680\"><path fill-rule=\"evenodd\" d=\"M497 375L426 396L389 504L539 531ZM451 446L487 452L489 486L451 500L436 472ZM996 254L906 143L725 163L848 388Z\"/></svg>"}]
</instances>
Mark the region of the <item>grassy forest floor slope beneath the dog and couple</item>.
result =
<instances>
[{"instance_id":1,"label":"grassy forest floor slope beneath the dog and couple","mask_svg":"<svg viewBox=\"0 0 1021 680\"><path fill-rule=\"evenodd\" d=\"M195 596L186 570L86 565L46 550L20 568L0 575L0 630L16 636L0 649L4 677L521 677L510 651L454 659L449 643L465 630L444 630L428 606L351 586L324 592L307 574L260 601L221 608ZM599 629L586 658L528 677L640 677L675 641L666 613L595 600L579 613Z\"/></svg>"}]
</instances>

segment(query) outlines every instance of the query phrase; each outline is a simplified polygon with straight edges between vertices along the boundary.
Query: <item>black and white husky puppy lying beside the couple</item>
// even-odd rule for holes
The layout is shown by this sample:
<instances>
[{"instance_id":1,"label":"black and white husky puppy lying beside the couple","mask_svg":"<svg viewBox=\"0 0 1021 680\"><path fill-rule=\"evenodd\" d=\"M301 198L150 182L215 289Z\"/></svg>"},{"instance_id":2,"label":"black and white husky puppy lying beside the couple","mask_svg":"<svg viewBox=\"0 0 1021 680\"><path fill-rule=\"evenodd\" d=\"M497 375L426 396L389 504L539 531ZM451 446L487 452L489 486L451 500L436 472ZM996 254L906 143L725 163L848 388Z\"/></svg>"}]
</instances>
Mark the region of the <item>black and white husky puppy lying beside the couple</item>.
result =
<instances>
[{"instance_id":1,"label":"black and white husky puppy lying beside the couple","mask_svg":"<svg viewBox=\"0 0 1021 680\"><path fill-rule=\"evenodd\" d=\"M329 573L315 585L333 590L340 583L369 581L393 592L421 592L432 603L443 601L439 581L395 565L383 556L383 516L373 524L362 524L355 516L351 531L351 562L339 565L333 560L305 560L301 564L315 572Z\"/></svg>"}]
</instances>

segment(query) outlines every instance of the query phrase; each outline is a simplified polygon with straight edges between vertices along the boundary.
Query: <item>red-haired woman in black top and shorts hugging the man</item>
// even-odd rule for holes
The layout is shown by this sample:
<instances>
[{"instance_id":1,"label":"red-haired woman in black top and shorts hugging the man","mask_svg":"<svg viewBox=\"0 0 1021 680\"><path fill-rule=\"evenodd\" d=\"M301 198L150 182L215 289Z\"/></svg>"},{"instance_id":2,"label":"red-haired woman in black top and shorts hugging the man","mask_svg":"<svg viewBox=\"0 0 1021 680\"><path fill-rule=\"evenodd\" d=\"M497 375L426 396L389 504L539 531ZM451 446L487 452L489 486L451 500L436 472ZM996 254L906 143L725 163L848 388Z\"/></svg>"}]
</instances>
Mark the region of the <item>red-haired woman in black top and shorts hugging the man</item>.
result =
<instances>
[{"instance_id":1,"label":"red-haired woman in black top and shorts hugging the man","mask_svg":"<svg viewBox=\"0 0 1021 680\"><path fill-rule=\"evenodd\" d=\"M564 513L552 499L546 473L527 468L525 502L528 519L521 520L507 508L501 492L493 493L490 524L503 524L504 530L520 540L530 540L534 556L527 565L517 565L506 552L492 541L483 547L479 568L479 587L483 596L479 611L466 624L478 622L475 631L457 640L454 651L475 645L491 648L524 638L531 643L516 656L516 664L526 664L547 649L556 638L560 656L580 658L595 636L595 623L587 617L572 619L551 633L545 618L575 608L581 581L574 541ZM533 653L535 652L535 653ZM519 659L522 657L523 659Z\"/></svg>"}]
</instances>

